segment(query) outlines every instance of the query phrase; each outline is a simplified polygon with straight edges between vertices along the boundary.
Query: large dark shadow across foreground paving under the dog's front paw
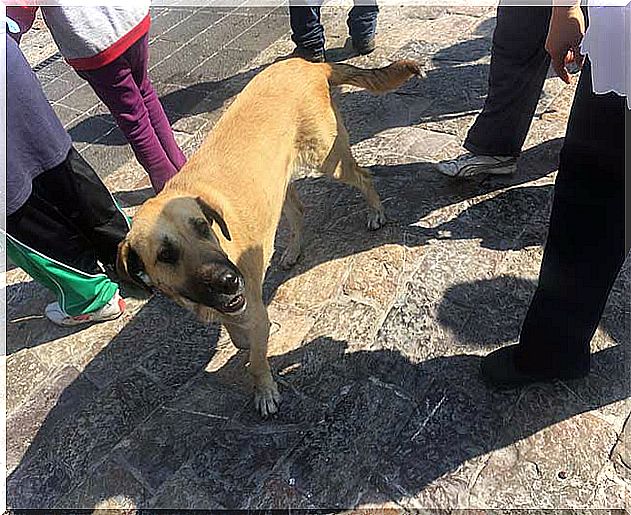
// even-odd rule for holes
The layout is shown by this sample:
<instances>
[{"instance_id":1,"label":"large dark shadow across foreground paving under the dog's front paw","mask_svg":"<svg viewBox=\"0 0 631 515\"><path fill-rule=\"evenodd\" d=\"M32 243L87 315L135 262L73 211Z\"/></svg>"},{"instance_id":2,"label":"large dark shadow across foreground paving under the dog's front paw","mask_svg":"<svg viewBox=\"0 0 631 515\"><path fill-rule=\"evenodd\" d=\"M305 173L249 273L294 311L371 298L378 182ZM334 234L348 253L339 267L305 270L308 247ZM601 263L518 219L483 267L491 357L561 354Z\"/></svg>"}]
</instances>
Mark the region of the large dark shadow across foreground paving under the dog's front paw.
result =
<instances>
[{"instance_id":1,"label":"large dark shadow across foreground paving under the dog's front paw","mask_svg":"<svg viewBox=\"0 0 631 515\"><path fill-rule=\"evenodd\" d=\"M459 284L446 299L485 298L473 313L488 312L485 333L494 334L503 304L489 304L500 296L488 294L507 280ZM222 349L214 348L215 330L179 310L164 317L173 311L165 302L150 302L65 388L25 453L9 447L9 467L17 465L10 506L342 509L405 501L465 462L479 464L628 393L623 346L597 352L589 380L500 393L482 384L480 357L470 352L411 361L389 341L386 320L373 351L318 337L273 356L283 404L262 423L242 388L246 353L205 371ZM471 335L454 325L448 303L439 322L457 327L452 346L462 348ZM7 429L19 442L16 422ZM568 480L584 479L577 474Z\"/></svg>"}]
</instances>

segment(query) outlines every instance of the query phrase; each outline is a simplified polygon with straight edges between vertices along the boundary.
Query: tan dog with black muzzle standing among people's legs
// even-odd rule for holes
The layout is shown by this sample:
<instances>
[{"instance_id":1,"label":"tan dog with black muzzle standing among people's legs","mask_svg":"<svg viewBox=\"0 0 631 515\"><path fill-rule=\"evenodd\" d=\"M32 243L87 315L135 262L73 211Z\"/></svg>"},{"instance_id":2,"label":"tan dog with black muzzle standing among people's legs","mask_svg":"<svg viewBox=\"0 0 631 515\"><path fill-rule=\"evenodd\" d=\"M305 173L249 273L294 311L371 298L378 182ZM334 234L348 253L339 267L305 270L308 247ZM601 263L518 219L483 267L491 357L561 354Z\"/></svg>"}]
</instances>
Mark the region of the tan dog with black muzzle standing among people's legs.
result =
<instances>
[{"instance_id":1,"label":"tan dog with black muzzle standing among people's legs","mask_svg":"<svg viewBox=\"0 0 631 515\"><path fill-rule=\"evenodd\" d=\"M238 348L250 350L255 404L263 416L280 400L267 362L270 322L262 284L281 213L293 235L281 258L300 255L303 209L290 184L299 165L355 186L369 205L368 227L385 222L369 173L353 158L330 86L383 93L420 74L411 61L363 70L288 59L257 75L197 153L134 217L119 247L118 272L164 292L206 321L217 317Z\"/></svg>"}]
</instances>

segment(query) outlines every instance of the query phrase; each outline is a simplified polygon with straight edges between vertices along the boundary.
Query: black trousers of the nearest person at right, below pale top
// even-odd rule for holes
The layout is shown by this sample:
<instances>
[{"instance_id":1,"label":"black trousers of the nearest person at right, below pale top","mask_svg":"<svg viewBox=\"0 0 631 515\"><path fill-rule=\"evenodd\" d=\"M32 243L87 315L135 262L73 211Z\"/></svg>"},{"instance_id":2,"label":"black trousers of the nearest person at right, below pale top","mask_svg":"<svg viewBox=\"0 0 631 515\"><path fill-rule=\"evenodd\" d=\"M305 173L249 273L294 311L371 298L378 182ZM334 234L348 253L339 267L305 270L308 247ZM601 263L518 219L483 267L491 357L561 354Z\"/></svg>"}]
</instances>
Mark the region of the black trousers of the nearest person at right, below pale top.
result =
<instances>
[{"instance_id":1,"label":"black trousers of the nearest person at right, below pale top","mask_svg":"<svg viewBox=\"0 0 631 515\"><path fill-rule=\"evenodd\" d=\"M517 364L526 371L555 377L589 371L590 341L629 250L627 116L622 97L592 93L587 63L561 151L539 285L521 331Z\"/></svg>"}]
</instances>

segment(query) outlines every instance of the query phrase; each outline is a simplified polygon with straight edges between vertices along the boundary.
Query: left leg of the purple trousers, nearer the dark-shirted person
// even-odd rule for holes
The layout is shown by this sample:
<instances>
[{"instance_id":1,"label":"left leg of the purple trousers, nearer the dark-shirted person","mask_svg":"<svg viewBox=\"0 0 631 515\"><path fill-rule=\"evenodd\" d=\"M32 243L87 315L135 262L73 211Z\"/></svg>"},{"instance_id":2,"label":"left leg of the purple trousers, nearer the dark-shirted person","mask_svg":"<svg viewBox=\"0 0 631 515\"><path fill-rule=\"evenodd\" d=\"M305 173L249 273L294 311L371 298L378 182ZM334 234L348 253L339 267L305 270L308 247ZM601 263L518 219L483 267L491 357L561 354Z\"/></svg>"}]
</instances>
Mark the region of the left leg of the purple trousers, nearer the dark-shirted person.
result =
<instances>
[{"instance_id":1,"label":"left leg of the purple trousers, nearer the dark-shirted person","mask_svg":"<svg viewBox=\"0 0 631 515\"><path fill-rule=\"evenodd\" d=\"M151 124L143 96L134 81L126 54L97 70L78 72L109 108L129 141L156 192L178 169L171 162Z\"/></svg>"}]
</instances>

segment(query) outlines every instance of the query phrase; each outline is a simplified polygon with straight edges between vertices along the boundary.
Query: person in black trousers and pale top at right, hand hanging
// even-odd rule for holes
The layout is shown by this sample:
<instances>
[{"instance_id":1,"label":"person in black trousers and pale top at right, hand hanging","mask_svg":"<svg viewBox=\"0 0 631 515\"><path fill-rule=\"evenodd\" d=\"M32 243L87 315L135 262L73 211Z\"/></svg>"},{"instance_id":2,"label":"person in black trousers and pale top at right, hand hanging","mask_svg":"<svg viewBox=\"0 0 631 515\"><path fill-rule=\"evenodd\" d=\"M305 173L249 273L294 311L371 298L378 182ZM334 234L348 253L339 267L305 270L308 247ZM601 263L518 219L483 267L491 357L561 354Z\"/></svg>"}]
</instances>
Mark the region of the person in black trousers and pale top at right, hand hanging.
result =
<instances>
[{"instance_id":1,"label":"person in black trousers and pale top at right, hand hanging","mask_svg":"<svg viewBox=\"0 0 631 515\"><path fill-rule=\"evenodd\" d=\"M587 60L561 150L539 282L519 343L482 362L483 378L500 387L589 373L590 342L629 252L625 120L631 109L631 4L589 5L588 11L585 33L578 3L553 8L546 49L557 74L569 83L567 64L580 65L581 51Z\"/></svg>"}]
</instances>

